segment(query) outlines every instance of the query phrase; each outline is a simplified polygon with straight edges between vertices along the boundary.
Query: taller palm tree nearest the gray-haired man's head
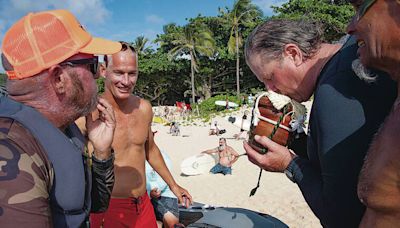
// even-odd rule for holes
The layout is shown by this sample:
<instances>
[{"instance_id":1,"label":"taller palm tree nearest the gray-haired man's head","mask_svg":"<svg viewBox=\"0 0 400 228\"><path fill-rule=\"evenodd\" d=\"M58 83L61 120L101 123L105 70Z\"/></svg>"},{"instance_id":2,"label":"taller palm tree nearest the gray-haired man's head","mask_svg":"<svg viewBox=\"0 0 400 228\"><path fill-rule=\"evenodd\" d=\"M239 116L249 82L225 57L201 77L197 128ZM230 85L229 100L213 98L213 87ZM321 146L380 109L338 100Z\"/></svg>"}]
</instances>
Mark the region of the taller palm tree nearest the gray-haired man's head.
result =
<instances>
[{"instance_id":1,"label":"taller palm tree nearest the gray-haired man's head","mask_svg":"<svg viewBox=\"0 0 400 228\"><path fill-rule=\"evenodd\" d=\"M237 0L232 11L226 13L227 19L231 25L231 33L228 41L228 52L236 55L236 93L240 95L240 65L239 65L239 48L242 47L243 41L241 26L252 22L257 16L261 15L261 10L251 3L251 0Z\"/></svg>"}]
</instances>

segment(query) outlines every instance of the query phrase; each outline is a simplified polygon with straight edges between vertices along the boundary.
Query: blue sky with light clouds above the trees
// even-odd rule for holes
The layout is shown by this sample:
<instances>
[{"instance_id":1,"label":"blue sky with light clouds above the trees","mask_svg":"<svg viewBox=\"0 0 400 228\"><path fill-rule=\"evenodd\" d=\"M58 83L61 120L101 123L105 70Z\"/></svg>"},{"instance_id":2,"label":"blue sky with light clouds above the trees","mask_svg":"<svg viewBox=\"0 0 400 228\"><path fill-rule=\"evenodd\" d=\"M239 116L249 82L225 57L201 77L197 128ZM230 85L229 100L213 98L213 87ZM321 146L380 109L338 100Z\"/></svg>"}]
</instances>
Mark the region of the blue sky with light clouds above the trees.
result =
<instances>
[{"instance_id":1,"label":"blue sky with light clouds above the trees","mask_svg":"<svg viewBox=\"0 0 400 228\"><path fill-rule=\"evenodd\" d=\"M271 5L284 2L253 0L265 15L272 14ZM140 35L153 40L167 23L183 25L198 14L215 16L218 7L233 4L234 0L0 0L0 41L14 22L32 11L69 9L92 35L133 41Z\"/></svg>"}]
</instances>

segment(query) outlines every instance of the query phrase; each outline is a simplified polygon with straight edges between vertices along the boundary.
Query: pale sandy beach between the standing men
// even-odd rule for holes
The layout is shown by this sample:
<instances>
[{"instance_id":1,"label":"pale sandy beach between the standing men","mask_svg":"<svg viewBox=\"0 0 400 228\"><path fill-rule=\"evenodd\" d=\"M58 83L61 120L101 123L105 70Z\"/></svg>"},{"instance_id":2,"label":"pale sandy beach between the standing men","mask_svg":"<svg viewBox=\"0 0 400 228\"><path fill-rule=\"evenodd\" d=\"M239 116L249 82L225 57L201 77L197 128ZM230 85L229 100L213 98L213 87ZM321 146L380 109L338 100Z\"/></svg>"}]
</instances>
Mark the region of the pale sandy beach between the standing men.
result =
<instances>
[{"instance_id":1,"label":"pale sandy beach between the standing men","mask_svg":"<svg viewBox=\"0 0 400 228\"><path fill-rule=\"evenodd\" d=\"M236 115L240 115L240 112ZM233 139L233 135L240 129L223 116L214 120L218 121L222 129L226 129L222 137L227 138L227 144L239 154L244 154L243 142ZM194 201L259 211L280 219L289 227L321 227L297 185L285 174L264 171L257 193L249 197L250 190L257 184L259 168L248 161L246 156L241 156L233 165L232 175L181 175L180 164L185 158L217 147L218 138L221 137L208 135L209 123L184 125L182 123L180 127L181 136L168 134L169 127L162 124L154 124L152 129L158 131L155 136L157 145L167 152L173 162L171 172L175 180L189 190Z\"/></svg>"}]
</instances>

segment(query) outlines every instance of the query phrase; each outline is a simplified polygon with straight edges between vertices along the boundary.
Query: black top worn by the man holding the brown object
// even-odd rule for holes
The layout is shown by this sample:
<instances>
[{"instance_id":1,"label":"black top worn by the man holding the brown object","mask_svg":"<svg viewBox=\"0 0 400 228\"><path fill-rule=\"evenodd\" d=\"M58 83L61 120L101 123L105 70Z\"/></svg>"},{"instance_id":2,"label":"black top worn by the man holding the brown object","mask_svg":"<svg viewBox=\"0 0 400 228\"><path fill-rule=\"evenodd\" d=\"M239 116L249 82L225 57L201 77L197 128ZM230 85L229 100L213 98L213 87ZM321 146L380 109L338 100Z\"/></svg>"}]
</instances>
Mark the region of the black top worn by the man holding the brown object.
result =
<instances>
[{"instance_id":1,"label":"black top worn by the man holding the brown object","mask_svg":"<svg viewBox=\"0 0 400 228\"><path fill-rule=\"evenodd\" d=\"M350 39L321 72L308 132L308 158L297 157L294 179L324 227L358 227L365 211L357 182L375 132L396 98L381 74L375 83L352 71L357 45Z\"/></svg>"}]
</instances>

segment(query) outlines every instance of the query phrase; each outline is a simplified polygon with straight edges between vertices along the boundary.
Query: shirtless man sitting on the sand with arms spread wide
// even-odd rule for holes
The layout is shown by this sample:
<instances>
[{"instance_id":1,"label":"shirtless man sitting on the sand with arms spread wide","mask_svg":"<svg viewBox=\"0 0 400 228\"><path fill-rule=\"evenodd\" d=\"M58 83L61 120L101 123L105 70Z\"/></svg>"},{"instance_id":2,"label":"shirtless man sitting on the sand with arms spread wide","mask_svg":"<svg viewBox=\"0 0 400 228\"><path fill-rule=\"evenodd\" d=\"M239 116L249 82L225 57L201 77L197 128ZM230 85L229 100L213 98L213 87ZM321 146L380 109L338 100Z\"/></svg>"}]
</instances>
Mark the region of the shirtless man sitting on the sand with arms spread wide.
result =
<instances>
[{"instance_id":1,"label":"shirtless man sitting on the sand with arms spread wide","mask_svg":"<svg viewBox=\"0 0 400 228\"><path fill-rule=\"evenodd\" d=\"M219 146L201 152L203 154L214 154L218 153L219 162L214 167L210 169L210 172L213 174L222 173L232 174L232 165L237 161L239 158L239 154L230 146L226 145L226 139L220 138L219 139Z\"/></svg>"}]
</instances>

